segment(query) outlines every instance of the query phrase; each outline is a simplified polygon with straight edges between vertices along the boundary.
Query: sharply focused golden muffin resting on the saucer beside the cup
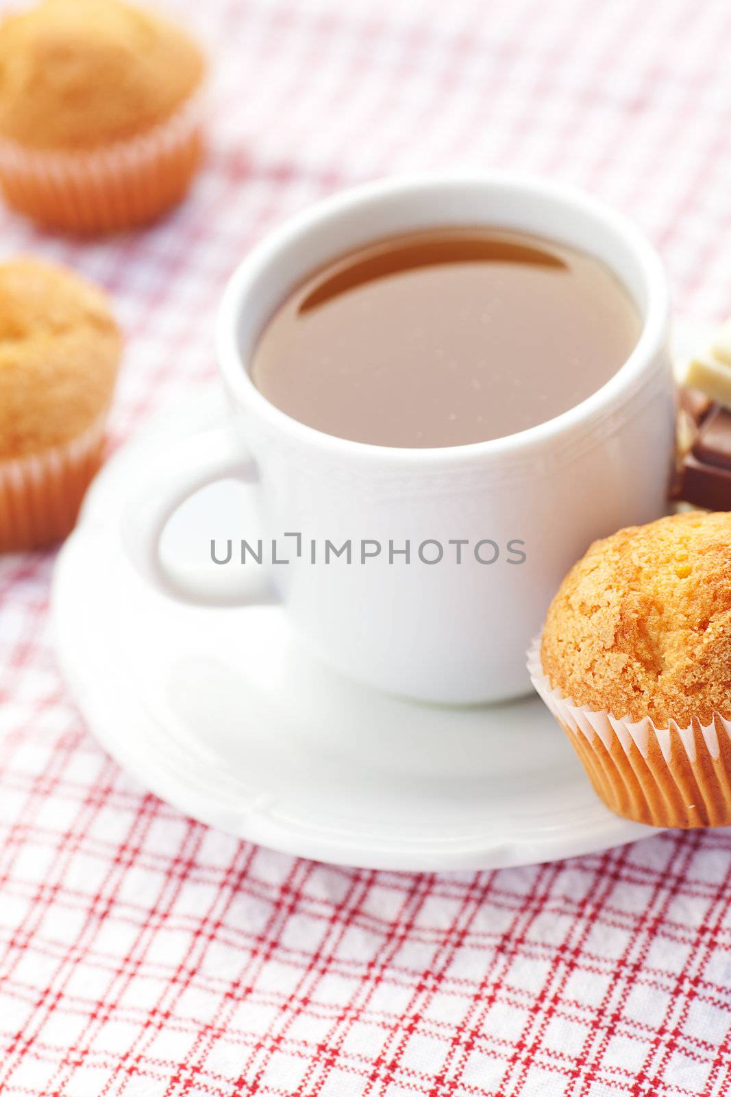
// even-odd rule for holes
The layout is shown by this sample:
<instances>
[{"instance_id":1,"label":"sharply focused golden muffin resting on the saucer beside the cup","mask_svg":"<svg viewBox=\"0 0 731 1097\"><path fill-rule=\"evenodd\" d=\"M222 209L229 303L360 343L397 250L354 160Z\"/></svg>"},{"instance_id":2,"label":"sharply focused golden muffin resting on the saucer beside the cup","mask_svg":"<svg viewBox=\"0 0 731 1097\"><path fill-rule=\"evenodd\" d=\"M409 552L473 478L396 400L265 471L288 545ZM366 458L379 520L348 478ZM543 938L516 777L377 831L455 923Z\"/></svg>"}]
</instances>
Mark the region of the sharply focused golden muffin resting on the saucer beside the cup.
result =
<instances>
[{"instance_id":1,"label":"sharply focused golden muffin resting on the saucer beside the cup","mask_svg":"<svg viewBox=\"0 0 731 1097\"><path fill-rule=\"evenodd\" d=\"M731 824L731 513L596 541L528 666L604 802L655 826Z\"/></svg>"}]
</instances>

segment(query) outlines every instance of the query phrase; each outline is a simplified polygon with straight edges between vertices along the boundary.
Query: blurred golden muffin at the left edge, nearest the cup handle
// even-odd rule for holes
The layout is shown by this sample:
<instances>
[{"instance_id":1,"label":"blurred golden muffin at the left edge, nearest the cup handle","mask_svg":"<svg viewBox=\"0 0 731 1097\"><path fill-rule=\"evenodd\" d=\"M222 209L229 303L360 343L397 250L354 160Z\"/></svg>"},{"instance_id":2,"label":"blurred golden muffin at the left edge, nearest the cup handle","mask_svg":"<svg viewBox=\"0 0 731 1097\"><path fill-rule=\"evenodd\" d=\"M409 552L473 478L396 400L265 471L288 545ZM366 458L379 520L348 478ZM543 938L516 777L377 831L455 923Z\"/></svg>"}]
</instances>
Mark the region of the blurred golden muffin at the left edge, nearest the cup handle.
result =
<instances>
[{"instance_id":1,"label":"blurred golden muffin at the left edge, nearest the cup handle","mask_svg":"<svg viewBox=\"0 0 731 1097\"><path fill-rule=\"evenodd\" d=\"M0 263L0 552L71 530L96 472L122 337L105 295L35 259Z\"/></svg>"}]
</instances>

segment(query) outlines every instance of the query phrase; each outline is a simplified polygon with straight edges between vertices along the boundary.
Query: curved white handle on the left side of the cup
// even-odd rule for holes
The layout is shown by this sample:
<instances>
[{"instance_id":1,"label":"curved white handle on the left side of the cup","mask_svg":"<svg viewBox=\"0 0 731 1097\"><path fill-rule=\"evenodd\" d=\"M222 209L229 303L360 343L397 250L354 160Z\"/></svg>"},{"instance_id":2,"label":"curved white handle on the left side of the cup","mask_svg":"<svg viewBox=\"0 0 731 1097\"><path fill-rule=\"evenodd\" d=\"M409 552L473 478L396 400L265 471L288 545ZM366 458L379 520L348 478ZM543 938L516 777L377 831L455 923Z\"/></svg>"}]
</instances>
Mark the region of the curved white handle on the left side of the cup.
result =
<instances>
[{"instance_id":1,"label":"curved white handle on the left side of the cup","mask_svg":"<svg viewBox=\"0 0 731 1097\"><path fill-rule=\"evenodd\" d=\"M147 470L146 483L122 510L122 543L130 562L152 586L196 606L252 606L276 601L262 569L226 568L220 574L183 575L167 567L160 539L169 519L195 491L216 480L255 484L255 462L230 427L216 427L173 443Z\"/></svg>"}]
</instances>

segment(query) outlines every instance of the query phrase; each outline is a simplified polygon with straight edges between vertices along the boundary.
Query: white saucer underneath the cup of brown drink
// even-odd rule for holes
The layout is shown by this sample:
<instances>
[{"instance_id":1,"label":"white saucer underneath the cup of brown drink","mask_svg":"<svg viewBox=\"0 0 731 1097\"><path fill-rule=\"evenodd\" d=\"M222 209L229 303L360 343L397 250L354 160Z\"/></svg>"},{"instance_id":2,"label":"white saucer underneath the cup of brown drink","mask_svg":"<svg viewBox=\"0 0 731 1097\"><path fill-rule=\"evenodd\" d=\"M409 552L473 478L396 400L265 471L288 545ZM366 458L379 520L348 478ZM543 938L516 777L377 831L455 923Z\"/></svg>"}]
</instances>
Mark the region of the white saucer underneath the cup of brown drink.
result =
<instances>
[{"instance_id":1,"label":"white saucer underneath the cup of brown drink","mask_svg":"<svg viewBox=\"0 0 731 1097\"><path fill-rule=\"evenodd\" d=\"M123 555L119 500L151 452L225 414L212 384L148 426L99 475L58 559L59 660L121 766L241 838L367 868L524 864L652 833L601 803L537 699L396 700L311 659L277 606L201 609L147 587ZM255 536L248 498L228 482L199 493L165 532L170 558L215 567L210 538Z\"/></svg>"}]
</instances>

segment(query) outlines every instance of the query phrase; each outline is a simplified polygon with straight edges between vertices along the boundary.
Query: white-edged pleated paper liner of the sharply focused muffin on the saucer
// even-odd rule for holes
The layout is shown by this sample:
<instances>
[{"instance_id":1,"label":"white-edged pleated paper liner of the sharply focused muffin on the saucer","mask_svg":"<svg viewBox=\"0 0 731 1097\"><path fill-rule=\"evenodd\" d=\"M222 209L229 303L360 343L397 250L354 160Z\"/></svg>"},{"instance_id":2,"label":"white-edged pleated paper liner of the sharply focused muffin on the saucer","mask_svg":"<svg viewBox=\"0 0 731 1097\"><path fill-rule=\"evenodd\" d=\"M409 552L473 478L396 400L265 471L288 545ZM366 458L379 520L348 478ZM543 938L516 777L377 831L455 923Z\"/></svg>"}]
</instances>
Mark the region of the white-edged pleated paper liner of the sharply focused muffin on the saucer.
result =
<instances>
[{"instance_id":1,"label":"white-edged pleated paper liner of the sharply focused muffin on the saucer","mask_svg":"<svg viewBox=\"0 0 731 1097\"><path fill-rule=\"evenodd\" d=\"M536 690L564 730L605 804L626 818L662 827L731 825L731 721L670 720L658 727L574 704L552 689L540 636L527 653Z\"/></svg>"}]
</instances>

